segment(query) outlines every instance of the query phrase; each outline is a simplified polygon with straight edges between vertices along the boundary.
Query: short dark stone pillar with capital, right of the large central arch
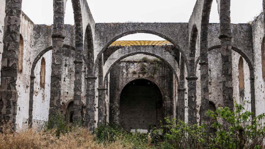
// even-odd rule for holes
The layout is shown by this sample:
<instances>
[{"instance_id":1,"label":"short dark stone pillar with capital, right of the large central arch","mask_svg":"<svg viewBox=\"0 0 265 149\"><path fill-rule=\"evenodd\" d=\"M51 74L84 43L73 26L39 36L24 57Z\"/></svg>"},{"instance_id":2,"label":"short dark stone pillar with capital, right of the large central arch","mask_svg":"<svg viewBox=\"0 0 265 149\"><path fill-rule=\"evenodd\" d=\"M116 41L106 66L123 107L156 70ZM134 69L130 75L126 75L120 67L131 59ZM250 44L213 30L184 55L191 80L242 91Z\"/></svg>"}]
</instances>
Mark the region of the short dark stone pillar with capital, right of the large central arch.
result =
<instances>
[{"instance_id":1,"label":"short dark stone pillar with capital, right of the large central arch","mask_svg":"<svg viewBox=\"0 0 265 149\"><path fill-rule=\"evenodd\" d=\"M196 101L196 76L186 77L188 80L188 122L189 124L197 124L197 101Z\"/></svg>"}]
</instances>

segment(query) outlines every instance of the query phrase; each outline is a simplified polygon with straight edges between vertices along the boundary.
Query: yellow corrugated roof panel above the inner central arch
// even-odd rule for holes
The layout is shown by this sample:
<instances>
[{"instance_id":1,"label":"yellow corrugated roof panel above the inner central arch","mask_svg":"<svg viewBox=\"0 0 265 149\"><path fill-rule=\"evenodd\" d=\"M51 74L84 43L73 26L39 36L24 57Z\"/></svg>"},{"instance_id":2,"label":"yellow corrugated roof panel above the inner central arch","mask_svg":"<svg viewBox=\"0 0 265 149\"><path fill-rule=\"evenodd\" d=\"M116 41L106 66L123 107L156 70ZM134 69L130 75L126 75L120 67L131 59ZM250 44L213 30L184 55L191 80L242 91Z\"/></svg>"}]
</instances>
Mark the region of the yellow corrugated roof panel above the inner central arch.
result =
<instances>
[{"instance_id":1,"label":"yellow corrugated roof panel above the inner central arch","mask_svg":"<svg viewBox=\"0 0 265 149\"><path fill-rule=\"evenodd\" d=\"M173 45L167 40L161 41L150 41L150 40L119 40L113 42L110 46L141 46L141 45L154 45L154 46L163 46L163 45Z\"/></svg>"}]
</instances>

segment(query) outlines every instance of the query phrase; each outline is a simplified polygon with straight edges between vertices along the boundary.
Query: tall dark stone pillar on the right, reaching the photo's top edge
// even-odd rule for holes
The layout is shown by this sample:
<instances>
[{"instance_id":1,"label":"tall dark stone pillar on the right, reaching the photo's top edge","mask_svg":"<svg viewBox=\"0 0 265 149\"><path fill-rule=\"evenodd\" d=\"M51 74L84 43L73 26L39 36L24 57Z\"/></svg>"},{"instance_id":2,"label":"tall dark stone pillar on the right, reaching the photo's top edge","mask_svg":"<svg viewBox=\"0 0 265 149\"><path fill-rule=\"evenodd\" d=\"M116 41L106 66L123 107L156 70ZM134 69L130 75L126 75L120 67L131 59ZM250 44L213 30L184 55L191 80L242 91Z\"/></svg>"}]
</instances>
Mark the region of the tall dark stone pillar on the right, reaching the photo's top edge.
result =
<instances>
[{"instance_id":1,"label":"tall dark stone pillar on the right, reaching the photo's top edge","mask_svg":"<svg viewBox=\"0 0 265 149\"><path fill-rule=\"evenodd\" d=\"M223 104L231 110L233 101L232 35L230 24L230 0L220 0L220 33L222 55Z\"/></svg>"}]
</instances>

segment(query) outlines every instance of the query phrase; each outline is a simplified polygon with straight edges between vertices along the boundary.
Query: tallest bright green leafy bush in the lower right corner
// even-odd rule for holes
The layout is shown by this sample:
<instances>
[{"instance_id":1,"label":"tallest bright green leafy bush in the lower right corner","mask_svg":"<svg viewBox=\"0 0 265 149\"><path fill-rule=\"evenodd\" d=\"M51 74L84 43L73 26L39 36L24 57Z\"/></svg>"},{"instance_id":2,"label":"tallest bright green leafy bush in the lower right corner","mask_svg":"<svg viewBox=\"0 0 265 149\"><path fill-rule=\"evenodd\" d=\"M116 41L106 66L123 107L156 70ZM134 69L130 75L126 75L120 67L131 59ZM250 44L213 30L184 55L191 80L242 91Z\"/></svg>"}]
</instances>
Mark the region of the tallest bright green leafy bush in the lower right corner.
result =
<instances>
[{"instance_id":1,"label":"tallest bright green leafy bush in the lower right corner","mask_svg":"<svg viewBox=\"0 0 265 149\"><path fill-rule=\"evenodd\" d=\"M253 112L245 111L242 105L236 104L234 112L228 107L220 107L215 112L208 111L207 115L213 119L212 126L216 129L214 137L211 138L211 148L260 149L262 147L265 127L261 121L264 119L264 114L254 117Z\"/></svg>"}]
</instances>

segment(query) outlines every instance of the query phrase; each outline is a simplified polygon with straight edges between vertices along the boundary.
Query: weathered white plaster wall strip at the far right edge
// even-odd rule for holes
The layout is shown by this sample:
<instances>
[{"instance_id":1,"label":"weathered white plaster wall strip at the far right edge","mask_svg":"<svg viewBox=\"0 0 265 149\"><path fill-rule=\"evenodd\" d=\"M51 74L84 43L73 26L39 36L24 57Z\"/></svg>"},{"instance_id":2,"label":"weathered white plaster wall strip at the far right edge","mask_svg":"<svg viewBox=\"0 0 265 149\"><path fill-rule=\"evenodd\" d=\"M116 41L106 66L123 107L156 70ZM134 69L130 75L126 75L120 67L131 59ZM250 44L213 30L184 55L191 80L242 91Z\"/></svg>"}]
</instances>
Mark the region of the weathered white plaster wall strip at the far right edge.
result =
<instances>
[{"instance_id":1,"label":"weathered white plaster wall strip at the far right edge","mask_svg":"<svg viewBox=\"0 0 265 149\"><path fill-rule=\"evenodd\" d=\"M253 21L253 53L254 53L254 78L255 78L255 98L256 115L265 113L265 82L262 78L261 67L261 42L264 36L263 15L259 15Z\"/></svg>"}]
</instances>

